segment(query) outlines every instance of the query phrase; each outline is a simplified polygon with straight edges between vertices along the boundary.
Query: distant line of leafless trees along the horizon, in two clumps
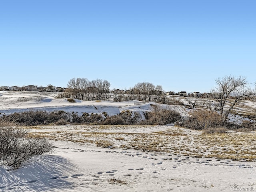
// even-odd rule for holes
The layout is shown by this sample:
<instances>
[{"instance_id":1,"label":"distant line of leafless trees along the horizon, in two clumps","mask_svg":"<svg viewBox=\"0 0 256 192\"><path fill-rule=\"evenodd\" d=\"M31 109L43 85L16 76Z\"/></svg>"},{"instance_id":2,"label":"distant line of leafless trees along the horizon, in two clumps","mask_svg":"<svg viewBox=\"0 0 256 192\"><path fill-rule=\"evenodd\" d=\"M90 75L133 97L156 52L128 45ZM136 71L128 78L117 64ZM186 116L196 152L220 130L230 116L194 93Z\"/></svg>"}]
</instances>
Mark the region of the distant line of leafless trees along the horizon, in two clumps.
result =
<instances>
[{"instance_id":1,"label":"distant line of leafless trees along the horizon, in two clumps","mask_svg":"<svg viewBox=\"0 0 256 192\"><path fill-rule=\"evenodd\" d=\"M68 81L67 88L60 97L76 98L78 100L109 100L110 99L110 82L107 80L96 79L88 80L87 78L72 78ZM135 84L124 95L114 93L114 100L148 100L157 101L163 95L163 88L160 85L154 86L149 82ZM153 98L154 96L154 98Z\"/></svg>"}]
</instances>

